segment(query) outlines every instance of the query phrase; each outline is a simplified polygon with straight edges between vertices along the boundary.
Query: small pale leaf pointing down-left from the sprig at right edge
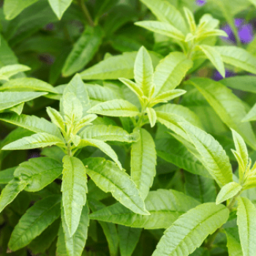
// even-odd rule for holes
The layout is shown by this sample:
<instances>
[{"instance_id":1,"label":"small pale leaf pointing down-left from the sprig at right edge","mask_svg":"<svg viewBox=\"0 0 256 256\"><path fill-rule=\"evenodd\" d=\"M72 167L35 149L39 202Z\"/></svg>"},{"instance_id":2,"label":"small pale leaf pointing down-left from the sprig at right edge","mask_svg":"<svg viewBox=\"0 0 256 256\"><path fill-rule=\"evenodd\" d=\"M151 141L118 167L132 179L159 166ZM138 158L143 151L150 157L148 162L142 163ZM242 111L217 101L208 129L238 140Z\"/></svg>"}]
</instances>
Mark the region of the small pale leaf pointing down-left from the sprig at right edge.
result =
<instances>
[{"instance_id":1,"label":"small pale leaf pointing down-left from the sprig at right edge","mask_svg":"<svg viewBox=\"0 0 256 256\"><path fill-rule=\"evenodd\" d=\"M231 197L234 197L238 194L238 192L243 189L240 184L236 182L230 182L228 184L225 184L222 189L220 189L219 194L216 198L216 204L222 203L226 201L227 199L230 199Z\"/></svg>"}]
</instances>

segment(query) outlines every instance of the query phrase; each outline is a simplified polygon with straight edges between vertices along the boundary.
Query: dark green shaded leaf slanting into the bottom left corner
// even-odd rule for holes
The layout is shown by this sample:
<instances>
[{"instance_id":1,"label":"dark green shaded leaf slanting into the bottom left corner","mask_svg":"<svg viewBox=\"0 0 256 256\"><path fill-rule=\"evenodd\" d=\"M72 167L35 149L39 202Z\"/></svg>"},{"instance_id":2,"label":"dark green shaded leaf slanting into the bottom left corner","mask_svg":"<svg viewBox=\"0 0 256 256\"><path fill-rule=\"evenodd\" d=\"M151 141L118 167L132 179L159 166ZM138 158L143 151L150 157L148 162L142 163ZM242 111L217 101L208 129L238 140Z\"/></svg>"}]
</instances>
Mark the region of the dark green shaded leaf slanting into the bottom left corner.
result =
<instances>
[{"instance_id":1,"label":"dark green shaded leaf slanting into the bottom left corner","mask_svg":"<svg viewBox=\"0 0 256 256\"><path fill-rule=\"evenodd\" d=\"M20 218L12 231L9 247L12 251L28 245L61 215L61 197L51 195L39 200Z\"/></svg>"}]
</instances>

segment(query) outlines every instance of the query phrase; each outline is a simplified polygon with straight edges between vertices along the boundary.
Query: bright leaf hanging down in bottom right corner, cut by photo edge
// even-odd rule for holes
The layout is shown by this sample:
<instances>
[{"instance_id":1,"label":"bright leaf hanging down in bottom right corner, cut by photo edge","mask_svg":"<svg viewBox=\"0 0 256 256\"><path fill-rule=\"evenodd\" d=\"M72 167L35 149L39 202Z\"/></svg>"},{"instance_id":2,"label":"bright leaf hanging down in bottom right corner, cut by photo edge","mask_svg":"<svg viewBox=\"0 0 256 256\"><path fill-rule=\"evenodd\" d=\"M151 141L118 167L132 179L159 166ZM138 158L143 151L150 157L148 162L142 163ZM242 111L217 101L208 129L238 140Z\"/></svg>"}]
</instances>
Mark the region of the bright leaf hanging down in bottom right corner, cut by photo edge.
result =
<instances>
[{"instance_id":1,"label":"bright leaf hanging down in bottom right corner, cut by photo edge","mask_svg":"<svg viewBox=\"0 0 256 256\"><path fill-rule=\"evenodd\" d=\"M246 197L238 197L237 225L244 256L256 250L256 208Z\"/></svg>"}]
</instances>

